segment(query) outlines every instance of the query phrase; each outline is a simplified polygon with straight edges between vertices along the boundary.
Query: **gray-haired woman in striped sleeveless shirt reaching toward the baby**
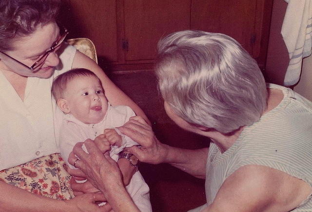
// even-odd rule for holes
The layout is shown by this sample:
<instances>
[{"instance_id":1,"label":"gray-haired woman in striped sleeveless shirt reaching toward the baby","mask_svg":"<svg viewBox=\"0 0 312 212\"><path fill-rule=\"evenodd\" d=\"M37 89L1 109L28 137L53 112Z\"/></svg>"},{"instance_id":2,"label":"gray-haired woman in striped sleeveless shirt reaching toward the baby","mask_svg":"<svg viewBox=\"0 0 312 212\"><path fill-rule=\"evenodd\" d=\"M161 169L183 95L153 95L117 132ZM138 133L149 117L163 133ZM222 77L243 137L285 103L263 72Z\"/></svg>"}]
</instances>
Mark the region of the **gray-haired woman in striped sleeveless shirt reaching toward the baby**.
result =
<instances>
[{"instance_id":1,"label":"gray-haired woman in striped sleeveless shirt reaching toward the baby","mask_svg":"<svg viewBox=\"0 0 312 212\"><path fill-rule=\"evenodd\" d=\"M226 35L176 32L158 49L156 74L167 114L206 136L210 147L167 146L133 117L119 128L142 145L129 151L140 161L205 178L207 204L194 211L312 211L312 103L289 88L266 85L254 59ZM137 211L116 164L92 141L85 145L90 154L81 144L74 148L76 166L114 210Z\"/></svg>"}]
</instances>

